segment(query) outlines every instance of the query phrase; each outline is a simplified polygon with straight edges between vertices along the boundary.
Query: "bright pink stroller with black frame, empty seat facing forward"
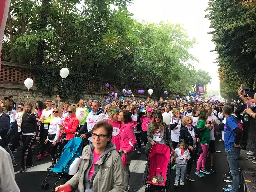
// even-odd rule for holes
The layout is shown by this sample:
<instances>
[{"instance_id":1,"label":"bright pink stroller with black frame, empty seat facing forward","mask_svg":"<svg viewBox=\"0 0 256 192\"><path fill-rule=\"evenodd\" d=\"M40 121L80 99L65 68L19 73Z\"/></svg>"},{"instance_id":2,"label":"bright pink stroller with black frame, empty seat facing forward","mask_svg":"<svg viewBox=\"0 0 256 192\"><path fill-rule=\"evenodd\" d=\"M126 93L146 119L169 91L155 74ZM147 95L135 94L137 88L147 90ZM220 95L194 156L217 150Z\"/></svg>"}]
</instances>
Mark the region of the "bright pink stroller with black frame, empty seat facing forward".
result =
<instances>
[{"instance_id":1,"label":"bright pink stroller with black frame, empty seat facing forward","mask_svg":"<svg viewBox=\"0 0 256 192\"><path fill-rule=\"evenodd\" d=\"M143 175L145 191L168 191L171 180L171 151L167 145L152 146Z\"/></svg>"}]
</instances>

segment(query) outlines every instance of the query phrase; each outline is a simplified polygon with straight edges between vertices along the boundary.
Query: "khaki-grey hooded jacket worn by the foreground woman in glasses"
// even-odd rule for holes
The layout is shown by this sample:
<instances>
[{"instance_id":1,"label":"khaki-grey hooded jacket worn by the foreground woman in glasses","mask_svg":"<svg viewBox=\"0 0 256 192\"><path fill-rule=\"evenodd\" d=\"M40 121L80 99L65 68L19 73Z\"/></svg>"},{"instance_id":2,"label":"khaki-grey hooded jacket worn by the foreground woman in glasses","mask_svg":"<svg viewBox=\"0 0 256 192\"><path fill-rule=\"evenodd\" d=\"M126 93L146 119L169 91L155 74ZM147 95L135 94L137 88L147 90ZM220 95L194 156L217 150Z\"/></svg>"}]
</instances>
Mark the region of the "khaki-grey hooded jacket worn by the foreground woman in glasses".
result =
<instances>
[{"instance_id":1,"label":"khaki-grey hooded jacket worn by the foreground woman in glasses","mask_svg":"<svg viewBox=\"0 0 256 192\"><path fill-rule=\"evenodd\" d=\"M88 175L94 159L93 149L92 144L83 149L78 172L64 185L70 184L72 189L78 188L79 192L124 191L123 163L120 155L116 152L115 145L111 142L108 142L105 151L99 157L99 161L94 164L94 174L92 176L94 180L92 188L89 189L91 182ZM99 171L97 172L97 170Z\"/></svg>"}]
</instances>

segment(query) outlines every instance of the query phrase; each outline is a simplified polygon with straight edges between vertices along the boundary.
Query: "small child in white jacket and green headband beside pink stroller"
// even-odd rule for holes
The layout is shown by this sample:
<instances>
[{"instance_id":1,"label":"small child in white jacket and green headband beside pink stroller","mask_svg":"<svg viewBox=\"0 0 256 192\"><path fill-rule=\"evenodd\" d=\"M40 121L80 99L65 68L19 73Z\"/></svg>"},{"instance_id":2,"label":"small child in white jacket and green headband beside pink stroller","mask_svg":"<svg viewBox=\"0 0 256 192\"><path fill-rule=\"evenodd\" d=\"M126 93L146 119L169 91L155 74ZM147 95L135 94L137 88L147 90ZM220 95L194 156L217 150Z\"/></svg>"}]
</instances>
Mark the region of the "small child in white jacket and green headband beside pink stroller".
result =
<instances>
[{"instance_id":1,"label":"small child in white jacket and green headband beside pink stroller","mask_svg":"<svg viewBox=\"0 0 256 192\"><path fill-rule=\"evenodd\" d=\"M189 151L186 145L186 141L181 139L177 148L172 149L172 154L176 155L176 177L174 186L178 187L179 175L180 177L180 185L184 185L184 177L185 171L187 167L187 161L190 159Z\"/></svg>"}]
</instances>

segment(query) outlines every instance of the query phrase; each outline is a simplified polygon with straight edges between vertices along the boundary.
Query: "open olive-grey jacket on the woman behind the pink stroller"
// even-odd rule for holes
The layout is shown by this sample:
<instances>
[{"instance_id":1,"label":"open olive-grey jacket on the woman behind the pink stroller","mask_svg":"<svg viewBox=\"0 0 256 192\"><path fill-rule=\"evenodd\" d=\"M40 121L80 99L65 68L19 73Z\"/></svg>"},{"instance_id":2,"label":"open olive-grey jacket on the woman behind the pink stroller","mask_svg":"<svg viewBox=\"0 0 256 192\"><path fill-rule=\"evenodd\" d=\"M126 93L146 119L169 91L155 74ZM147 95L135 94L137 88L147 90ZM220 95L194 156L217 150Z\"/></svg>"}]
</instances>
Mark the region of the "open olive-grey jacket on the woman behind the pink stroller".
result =
<instances>
[{"instance_id":1,"label":"open olive-grey jacket on the woman behind the pink stroller","mask_svg":"<svg viewBox=\"0 0 256 192\"><path fill-rule=\"evenodd\" d=\"M147 154L150 153L150 150L152 148L151 142L153 141L153 134L154 134L154 132L151 129L151 124L152 123L148 124L148 130L147 130L148 142L147 142L146 147L145 147L145 153L147 153ZM164 145L167 145L167 144L169 144L169 146L172 149L171 134L169 132L167 124L164 123Z\"/></svg>"}]
</instances>

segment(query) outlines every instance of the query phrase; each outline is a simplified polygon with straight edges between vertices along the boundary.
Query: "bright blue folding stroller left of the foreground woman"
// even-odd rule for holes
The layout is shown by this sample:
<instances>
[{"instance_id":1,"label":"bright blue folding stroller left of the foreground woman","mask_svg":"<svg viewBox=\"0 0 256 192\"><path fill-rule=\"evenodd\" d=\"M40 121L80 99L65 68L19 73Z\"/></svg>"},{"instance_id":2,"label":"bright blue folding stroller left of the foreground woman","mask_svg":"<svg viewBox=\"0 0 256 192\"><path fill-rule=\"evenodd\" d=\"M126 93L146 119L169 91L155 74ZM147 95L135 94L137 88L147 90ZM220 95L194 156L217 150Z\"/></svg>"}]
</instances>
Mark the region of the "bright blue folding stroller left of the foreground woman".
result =
<instances>
[{"instance_id":1,"label":"bright blue folding stroller left of the foreground woman","mask_svg":"<svg viewBox=\"0 0 256 192\"><path fill-rule=\"evenodd\" d=\"M62 150L62 154L60 155L60 158L58 159L57 163L53 168L50 168L51 171L49 174L46 176L44 181L41 184L41 187L44 189L49 189L50 184L46 183L47 177L59 177L56 175L50 175L52 172L61 174L59 179L56 181L52 188L52 192L55 191L55 187L57 183L59 182L60 178L64 173L69 172L69 166L72 164L72 162L75 160L76 157L81 156L82 154L82 145L83 140L80 137L73 137L71 140L68 141L68 143L65 145L65 147Z\"/></svg>"}]
</instances>

